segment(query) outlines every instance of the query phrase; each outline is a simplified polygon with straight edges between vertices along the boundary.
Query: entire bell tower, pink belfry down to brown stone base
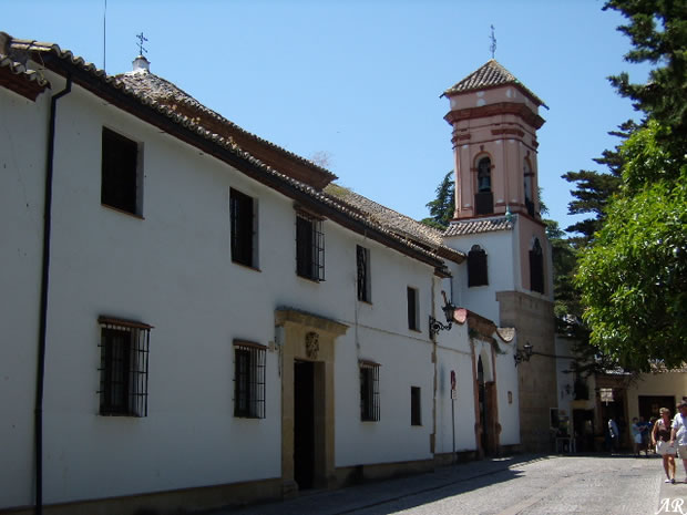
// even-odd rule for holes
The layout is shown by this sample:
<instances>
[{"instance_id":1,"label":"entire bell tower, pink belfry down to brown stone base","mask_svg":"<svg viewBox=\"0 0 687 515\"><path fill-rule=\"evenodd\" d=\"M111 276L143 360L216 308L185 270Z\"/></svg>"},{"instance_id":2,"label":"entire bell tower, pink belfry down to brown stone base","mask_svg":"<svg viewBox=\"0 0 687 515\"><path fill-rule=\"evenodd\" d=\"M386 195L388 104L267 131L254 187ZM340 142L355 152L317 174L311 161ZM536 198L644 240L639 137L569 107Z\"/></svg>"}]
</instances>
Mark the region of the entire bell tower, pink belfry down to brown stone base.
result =
<instances>
[{"instance_id":1,"label":"entire bell tower, pink belfry down to brown stone base","mask_svg":"<svg viewBox=\"0 0 687 515\"><path fill-rule=\"evenodd\" d=\"M557 408L551 245L540 216L536 131L546 107L495 60L447 90L454 219L445 243L468 255L454 279L466 308L517 330L521 444L548 451ZM464 275L463 275L464 274ZM548 356L542 356L548 354ZM515 364L514 364L515 365Z\"/></svg>"}]
</instances>

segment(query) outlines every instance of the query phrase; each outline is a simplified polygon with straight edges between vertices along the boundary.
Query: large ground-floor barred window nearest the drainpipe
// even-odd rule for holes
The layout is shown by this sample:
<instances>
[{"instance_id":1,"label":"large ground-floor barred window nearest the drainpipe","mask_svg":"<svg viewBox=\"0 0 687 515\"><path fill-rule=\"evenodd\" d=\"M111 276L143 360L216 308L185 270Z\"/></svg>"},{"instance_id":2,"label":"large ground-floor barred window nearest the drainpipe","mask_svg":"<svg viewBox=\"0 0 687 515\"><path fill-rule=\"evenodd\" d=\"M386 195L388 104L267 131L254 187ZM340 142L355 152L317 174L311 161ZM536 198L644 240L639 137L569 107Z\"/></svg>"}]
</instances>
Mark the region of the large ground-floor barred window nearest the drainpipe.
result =
<instances>
[{"instance_id":1,"label":"large ground-floor barred window nearest the drainpipe","mask_svg":"<svg viewBox=\"0 0 687 515\"><path fill-rule=\"evenodd\" d=\"M100 317L100 414L147 416L152 326Z\"/></svg>"}]
</instances>

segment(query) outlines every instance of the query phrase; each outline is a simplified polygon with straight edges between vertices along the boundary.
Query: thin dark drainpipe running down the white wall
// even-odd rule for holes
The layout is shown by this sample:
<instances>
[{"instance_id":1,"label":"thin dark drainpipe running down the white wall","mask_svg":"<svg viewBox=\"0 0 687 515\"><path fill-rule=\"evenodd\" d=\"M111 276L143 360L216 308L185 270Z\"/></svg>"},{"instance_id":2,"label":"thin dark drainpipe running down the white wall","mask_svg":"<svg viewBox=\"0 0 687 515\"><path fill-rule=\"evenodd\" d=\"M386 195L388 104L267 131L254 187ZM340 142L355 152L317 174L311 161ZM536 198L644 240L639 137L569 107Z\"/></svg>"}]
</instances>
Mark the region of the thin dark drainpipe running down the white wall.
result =
<instances>
[{"instance_id":1,"label":"thin dark drainpipe running down the white wall","mask_svg":"<svg viewBox=\"0 0 687 515\"><path fill-rule=\"evenodd\" d=\"M43 385L45 379L45 334L48 327L48 286L50 284L50 229L52 223L52 175L54 161L55 117L58 100L72 91L72 76L50 102L48 156L45 159L45 198L43 203L43 262L41 276L40 326L38 336L38 373L35 383L35 514L43 513Z\"/></svg>"}]
</instances>

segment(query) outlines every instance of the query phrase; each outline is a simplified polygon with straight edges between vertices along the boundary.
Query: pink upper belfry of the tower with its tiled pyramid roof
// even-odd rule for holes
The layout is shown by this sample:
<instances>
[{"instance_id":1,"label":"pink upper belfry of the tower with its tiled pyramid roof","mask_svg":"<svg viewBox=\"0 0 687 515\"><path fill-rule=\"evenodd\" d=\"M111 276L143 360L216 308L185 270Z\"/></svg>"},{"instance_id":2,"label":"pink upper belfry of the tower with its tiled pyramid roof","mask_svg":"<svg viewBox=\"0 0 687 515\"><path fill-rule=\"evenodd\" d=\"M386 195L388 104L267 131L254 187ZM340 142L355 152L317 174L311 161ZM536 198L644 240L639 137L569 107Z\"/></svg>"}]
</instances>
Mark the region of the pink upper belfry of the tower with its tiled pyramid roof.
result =
<instances>
[{"instance_id":1,"label":"pink upper belfry of the tower with its tiled pyramid roof","mask_svg":"<svg viewBox=\"0 0 687 515\"><path fill-rule=\"evenodd\" d=\"M545 106L495 60L443 93L451 111L455 218L511 213L540 219L536 131Z\"/></svg>"}]
</instances>

